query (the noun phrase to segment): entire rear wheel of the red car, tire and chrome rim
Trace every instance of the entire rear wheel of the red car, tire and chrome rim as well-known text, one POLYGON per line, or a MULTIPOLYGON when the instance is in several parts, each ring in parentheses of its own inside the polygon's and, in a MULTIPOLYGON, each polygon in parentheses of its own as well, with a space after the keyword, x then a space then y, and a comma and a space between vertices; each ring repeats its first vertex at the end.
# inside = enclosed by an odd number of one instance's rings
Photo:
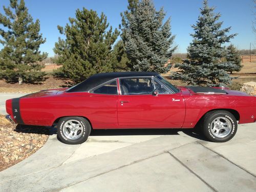
POLYGON ((57 125, 57 136, 61 142, 66 144, 81 144, 88 139, 90 133, 91 124, 83 117, 63 117, 59 120, 57 125), (65 126, 67 123, 70 124, 69 122, 78 124, 77 126, 79 126, 80 130, 78 130, 78 134, 75 135, 78 138, 75 138, 75 136, 71 134, 71 129, 68 126, 65 126), (68 136, 69 133, 70 136, 68 136), (73 138, 71 139, 71 137, 73 138))

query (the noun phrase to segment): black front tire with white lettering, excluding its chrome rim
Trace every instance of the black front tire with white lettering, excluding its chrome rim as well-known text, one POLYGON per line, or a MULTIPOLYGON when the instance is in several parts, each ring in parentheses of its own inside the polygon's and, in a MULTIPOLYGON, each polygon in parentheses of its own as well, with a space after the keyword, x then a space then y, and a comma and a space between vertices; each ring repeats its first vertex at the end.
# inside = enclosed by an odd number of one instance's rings
POLYGON ((236 120, 236 118, 234 118, 234 116, 231 113, 219 112, 219 113, 211 115, 208 119, 206 119, 206 121, 204 123, 204 127, 206 127, 206 129, 204 129, 205 135, 208 137, 209 140, 214 141, 214 142, 225 142, 225 141, 228 141, 231 138, 233 138, 233 136, 236 134, 237 120, 236 120), (223 138, 216 137, 210 131, 210 125, 211 125, 212 121, 217 117, 225 117, 231 123, 231 132, 226 137, 223 137, 223 138))

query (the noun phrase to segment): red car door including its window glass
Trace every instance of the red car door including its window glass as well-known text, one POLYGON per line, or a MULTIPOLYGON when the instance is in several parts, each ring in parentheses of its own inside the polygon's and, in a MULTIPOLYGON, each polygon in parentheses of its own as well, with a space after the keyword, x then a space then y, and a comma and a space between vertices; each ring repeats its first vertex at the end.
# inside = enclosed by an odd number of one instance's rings
POLYGON ((120 78, 121 95, 117 113, 120 127, 181 127, 185 103, 180 93, 172 94, 152 77, 120 78), (157 89, 158 95, 152 92, 157 89))

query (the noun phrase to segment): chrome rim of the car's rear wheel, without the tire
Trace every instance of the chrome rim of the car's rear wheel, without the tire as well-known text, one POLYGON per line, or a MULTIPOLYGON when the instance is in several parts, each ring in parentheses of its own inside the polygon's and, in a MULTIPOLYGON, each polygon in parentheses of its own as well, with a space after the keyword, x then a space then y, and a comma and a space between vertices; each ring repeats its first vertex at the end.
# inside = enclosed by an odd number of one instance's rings
POLYGON ((82 124, 74 119, 68 120, 63 125, 63 134, 71 140, 79 139, 82 136, 83 127, 82 124))

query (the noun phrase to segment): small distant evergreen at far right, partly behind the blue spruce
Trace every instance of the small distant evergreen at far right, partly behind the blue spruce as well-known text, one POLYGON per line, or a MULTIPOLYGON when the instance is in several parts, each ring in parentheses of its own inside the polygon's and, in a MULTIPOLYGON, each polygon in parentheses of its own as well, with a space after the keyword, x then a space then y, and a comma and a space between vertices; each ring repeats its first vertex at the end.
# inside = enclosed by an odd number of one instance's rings
POLYGON ((233 44, 227 47, 227 55, 226 55, 226 61, 231 62, 232 65, 230 65, 226 71, 232 74, 233 71, 241 71, 243 65, 242 65, 242 58, 239 54, 236 47, 234 47, 233 44))

